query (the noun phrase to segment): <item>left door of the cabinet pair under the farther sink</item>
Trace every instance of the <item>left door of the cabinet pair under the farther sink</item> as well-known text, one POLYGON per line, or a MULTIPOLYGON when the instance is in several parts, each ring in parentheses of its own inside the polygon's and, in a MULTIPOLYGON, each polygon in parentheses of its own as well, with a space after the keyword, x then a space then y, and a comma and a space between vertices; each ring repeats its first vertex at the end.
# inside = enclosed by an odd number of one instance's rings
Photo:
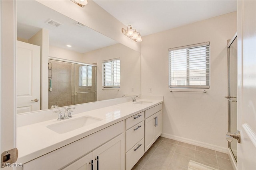
POLYGON ((152 115, 145 120, 145 152, 155 141, 156 117, 152 115))

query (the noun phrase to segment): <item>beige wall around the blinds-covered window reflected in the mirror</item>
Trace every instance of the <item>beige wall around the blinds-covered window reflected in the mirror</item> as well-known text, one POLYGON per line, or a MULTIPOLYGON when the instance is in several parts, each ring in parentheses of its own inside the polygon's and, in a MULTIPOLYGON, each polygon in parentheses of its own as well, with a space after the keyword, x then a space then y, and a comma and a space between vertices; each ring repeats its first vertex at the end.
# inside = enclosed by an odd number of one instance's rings
POLYGON ((84 54, 84 63, 97 63, 97 100, 140 94, 140 53, 118 43, 84 54), (102 90, 102 61, 120 58, 120 90, 102 90))

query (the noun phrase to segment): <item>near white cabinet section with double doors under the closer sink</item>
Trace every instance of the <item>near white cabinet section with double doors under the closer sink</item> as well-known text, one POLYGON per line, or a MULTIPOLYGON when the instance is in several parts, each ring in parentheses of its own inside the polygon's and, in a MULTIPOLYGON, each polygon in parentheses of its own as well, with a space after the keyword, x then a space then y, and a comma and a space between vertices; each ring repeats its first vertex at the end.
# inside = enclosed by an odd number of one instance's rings
POLYGON ((99 170, 125 169, 125 141, 124 121, 106 127, 92 135, 79 139, 64 147, 54 150, 24 164, 24 170, 97 170, 97 156, 99 170))

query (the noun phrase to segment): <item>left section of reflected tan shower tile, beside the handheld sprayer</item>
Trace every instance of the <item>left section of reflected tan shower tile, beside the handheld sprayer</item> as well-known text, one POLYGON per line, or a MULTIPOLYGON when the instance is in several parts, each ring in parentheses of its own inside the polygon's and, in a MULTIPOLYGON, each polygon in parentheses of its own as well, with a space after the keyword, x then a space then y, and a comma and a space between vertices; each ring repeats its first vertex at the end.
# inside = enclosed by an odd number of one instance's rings
MULTIPOLYGON (((49 93, 48 108, 52 105, 68 106, 72 104, 72 88, 71 88, 71 63, 60 61, 51 61, 52 63, 52 91, 49 93)), ((50 75, 49 70, 49 77, 50 75)), ((50 79, 50 78, 48 78, 50 79)), ((50 80, 49 80, 50 88, 50 80)))

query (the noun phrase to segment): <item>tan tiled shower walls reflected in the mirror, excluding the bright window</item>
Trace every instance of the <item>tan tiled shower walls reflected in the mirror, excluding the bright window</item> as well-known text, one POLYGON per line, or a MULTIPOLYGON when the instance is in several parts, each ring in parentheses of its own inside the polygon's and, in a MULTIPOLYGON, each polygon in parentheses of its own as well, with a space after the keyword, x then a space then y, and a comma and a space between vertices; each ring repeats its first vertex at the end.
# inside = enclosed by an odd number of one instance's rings
MULTIPOLYGON (((79 87, 80 64, 52 60, 49 62, 52 63, 52 91, 48 91, 48 108, 54 104, 62 107, 96 101, 96 93, 94 93, 96 91, 95 68, 92 68, 92 87, 79 87)), ((51 76, 50 70, 48 75, 51 76)), ((50 80, 48 88, 50 88, 50 80)))

